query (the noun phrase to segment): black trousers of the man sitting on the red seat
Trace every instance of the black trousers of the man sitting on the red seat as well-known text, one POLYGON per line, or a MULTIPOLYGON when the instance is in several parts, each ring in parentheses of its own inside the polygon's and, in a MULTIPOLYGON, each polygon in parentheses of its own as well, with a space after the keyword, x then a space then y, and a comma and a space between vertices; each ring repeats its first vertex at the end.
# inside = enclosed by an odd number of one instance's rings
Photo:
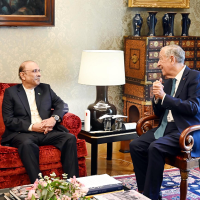
POLYGON ((63 171, 68 178, 79 177, 76 137, 70 133, 53 130, 46 135, 44 133, 19 133, 10 143, 10 146, 18 148, 22 163, 29 175, 31 183, 34 183, 40 173, 39 146, 53 145, 61 151, 63 171))

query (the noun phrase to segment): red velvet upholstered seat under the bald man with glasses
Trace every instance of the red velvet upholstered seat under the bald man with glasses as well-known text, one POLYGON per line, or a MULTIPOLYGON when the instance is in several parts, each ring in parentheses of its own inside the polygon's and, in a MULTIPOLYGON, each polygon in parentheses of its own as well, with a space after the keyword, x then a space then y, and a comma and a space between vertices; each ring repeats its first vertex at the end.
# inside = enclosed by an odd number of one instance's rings
MULTIPOLYGON (((5 89, 15 84, 0 83, 0 143, 4 133, 5 125, 2 117, 2 101, 5 89)), ((77 138, 81 130, 81 120, 78 116, 67 113, 62 124, 77 138)), ((87 155, 85 140, 77 138, 77 153, 79 164, 79 175, 86 176, 85 156, 87 155)), ((40 147, 40 170, 43 175, 55 172, 62 177, 61 152, 54 146, 40 147)), ((70 162, 70 161, 69 161, 70 162)), ((0 145, 0 189, 14 187, 17 185, 30 184, 28 174, 19 157, 17 148, 0 145)))

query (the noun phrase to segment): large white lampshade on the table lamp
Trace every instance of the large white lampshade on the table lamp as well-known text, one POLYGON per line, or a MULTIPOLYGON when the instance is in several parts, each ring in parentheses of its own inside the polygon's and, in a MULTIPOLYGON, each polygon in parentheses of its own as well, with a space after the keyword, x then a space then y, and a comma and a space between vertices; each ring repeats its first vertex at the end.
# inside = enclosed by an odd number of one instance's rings
POLYGON ((120 50, 84 50, 78 83, 96 86, 125 84, 124 52, 120 50))

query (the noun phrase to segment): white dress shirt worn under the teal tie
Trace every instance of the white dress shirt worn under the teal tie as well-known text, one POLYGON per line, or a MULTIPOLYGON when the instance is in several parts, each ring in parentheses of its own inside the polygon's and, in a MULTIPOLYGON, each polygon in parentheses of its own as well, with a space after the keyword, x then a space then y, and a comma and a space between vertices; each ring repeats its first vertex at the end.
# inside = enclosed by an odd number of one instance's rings
MULTIPOLYGON (((186 68, 186 65, 183 67, 183 69, 182 69, 182 70, 176 75, 176 77, 175 77, 175 79, 176 79, 176 85, 175 85, 174 94, 172 95, 173 97, 174 97, 175 94, 176 94, 176 91, 177 91, 177 89, 178 89, 178 86, 179 86, 179 83, 180 83, 181 78, 182 78, 182 76, 183 76, 183 72, 184 72, 185 68, 186 68)), ((165 99, 165 96, 166 96, 166 94, 163 96, 161 105, 163 104, 163 101, 164 101, 164 99, 165 99)), ((158 101, 156 101, 155 99, 154 99, 154 102, 155 102, 156 104, 158 103, 158 101)), ((171 111, 171 110, 169 110, 169 113, 168 113, 168 115, 167 115, 167 121, 168 121, 168 122, 174 122, 174 118, 173 118, 173 116, 172 116, 172 111, 171 111)))

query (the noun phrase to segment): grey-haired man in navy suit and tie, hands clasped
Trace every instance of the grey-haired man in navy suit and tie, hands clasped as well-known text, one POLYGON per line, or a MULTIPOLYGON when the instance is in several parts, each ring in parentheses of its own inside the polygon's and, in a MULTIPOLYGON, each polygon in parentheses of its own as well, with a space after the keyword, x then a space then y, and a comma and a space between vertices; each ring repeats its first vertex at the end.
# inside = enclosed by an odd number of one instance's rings
MULTIPOLYGON (((153 200, 161 199, 165 157, 176 156, 181 132, 200 122, 200 72, 184 65, 184 60, 185 52, 177 45, 161 49, 158 67, 165 80, 153 83, 152 100, 160 123, 130 143, 138 191, 153 200)), ((200 132, 193 137, 200 141, 200 132)), ((200 156, 199 144, 194 144, 191 154, 200 156)))

